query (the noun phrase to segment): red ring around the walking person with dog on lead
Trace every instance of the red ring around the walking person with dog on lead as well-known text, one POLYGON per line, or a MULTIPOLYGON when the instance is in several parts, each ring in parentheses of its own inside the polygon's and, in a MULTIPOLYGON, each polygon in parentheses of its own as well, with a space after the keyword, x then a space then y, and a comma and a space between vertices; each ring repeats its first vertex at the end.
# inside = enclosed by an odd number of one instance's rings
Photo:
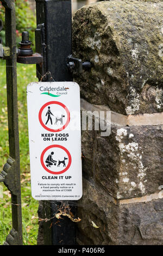
POLYGON ((64 130, 64 129, 67 127, 67 125, 70 123, 70 112, 68 111, 68 108, 67 108, 63 103, 61 103, 61 102, 59 102, 59 101, 49 101, 49 102, 45 103, 45 104, 40 108, 40 111, 39 111, 39 121, 40 121, 40 124, 42 125, 42 127, 45 128, 47 131, 49 131, 49 132, 59 132, 59 131, 64 130), (51 104, 60 105, 61 107, 63 107, 63 108, 65 109, 66 114, 67 114, 67 121, 66 121, 65 125, 62 126, 62 127, 59 128, 59 129, 51 129, 51 128, 47 127, 45 124, 43 124, 43 121, 42 121, 41 115, 42 115, 43 109, 44 109, 45 107, 47 107, 48 105, 51 105, 51 104))

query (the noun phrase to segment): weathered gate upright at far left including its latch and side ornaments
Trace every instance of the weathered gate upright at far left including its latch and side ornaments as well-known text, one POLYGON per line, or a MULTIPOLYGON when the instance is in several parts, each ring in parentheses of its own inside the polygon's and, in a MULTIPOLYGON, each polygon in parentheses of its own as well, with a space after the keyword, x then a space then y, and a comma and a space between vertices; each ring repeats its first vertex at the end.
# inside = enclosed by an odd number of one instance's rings
MULTIPOLYGON (((16 77, 16 17, 15 1, 2 0, 5 8, 5 44, 0 44, 0 57, 6 59, 7 104, 9 130, 9 159, 0 173, 0 182, 4 182, 11 192, 12 229, 4 245, 22 245, 22 212, 20 184, 20 153, 18 141, 17 77, 16 77)), ((1 28, 2 30, 2 22, 1 28)), ((2 40, 0 40, 0 43, 2 40)))

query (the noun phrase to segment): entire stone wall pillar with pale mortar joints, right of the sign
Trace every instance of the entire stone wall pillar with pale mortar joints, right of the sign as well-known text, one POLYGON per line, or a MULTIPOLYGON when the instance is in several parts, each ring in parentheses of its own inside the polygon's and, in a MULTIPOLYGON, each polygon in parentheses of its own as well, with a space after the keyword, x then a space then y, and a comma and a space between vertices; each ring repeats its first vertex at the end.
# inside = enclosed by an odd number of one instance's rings
POLYGON ((80 245, 163 243, 163 3, 99 2, 73 18, 83 110, 111 111, 111 134, 82 131, 80 245), (99 228, 92 226, 92 221, 99 228))

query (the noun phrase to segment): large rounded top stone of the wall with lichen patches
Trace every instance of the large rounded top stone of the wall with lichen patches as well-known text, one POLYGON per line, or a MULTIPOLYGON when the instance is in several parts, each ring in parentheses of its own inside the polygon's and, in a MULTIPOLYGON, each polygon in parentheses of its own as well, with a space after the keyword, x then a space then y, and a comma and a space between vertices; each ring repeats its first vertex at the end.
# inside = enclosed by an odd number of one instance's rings
POLYGON ((76 75, 81 95, 122 114, 163 110, 162 2, 109 1, 79 9, 73 54, 93 67, 76 75))

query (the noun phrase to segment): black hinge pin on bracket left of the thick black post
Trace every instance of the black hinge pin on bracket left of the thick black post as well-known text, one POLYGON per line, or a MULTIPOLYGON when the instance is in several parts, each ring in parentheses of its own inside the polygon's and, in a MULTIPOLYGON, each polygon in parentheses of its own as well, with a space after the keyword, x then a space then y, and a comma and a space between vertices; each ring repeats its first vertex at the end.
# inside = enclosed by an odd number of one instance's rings
POLYGON ((19 43, 20 47, 17 50, 17 62, 23 64, 41 64, 43 57, 40 53, 34 53, 30 47, 32 44, 29 41, 29 33, 27 31, 22 32, 22 41, 19 43))

